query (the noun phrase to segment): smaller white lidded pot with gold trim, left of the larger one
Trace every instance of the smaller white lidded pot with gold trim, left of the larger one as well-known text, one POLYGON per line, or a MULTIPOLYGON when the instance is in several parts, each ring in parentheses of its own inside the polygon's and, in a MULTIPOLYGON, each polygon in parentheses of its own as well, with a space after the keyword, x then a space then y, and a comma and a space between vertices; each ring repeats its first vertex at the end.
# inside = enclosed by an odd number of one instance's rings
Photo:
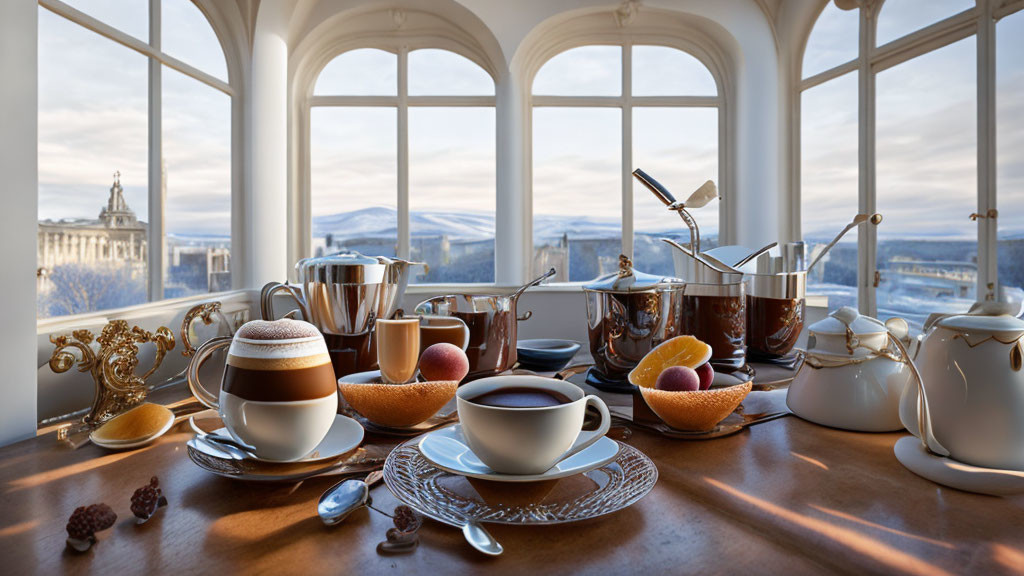
POLYGON ((804 363, 786 395, 794 414, 857 431, 903 427, 899 403, 911 381, 908 360, 894 345, 906 322, 887 323, 844 306, 808 328, 804 363))

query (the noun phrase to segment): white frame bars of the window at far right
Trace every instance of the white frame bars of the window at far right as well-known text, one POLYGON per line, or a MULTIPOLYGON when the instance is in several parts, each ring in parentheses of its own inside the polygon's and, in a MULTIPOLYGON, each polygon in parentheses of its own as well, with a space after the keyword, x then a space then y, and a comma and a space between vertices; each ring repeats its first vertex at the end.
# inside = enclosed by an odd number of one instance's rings
MULTIPOLYGON (((949 17, 929 25, 882 46, 876 46, 876 31, 884 0, 864 3, 857 8, 860 18, 858 55, 855 59, 833 67, 824 72, 803 78, 794 96, 796 118, 804 90, 823 84, 848 73, 858 75, 858 206, 862 213, 873 214, 877 206, 876 189, 876 89, 878 73, 922 56, 954 42, 974 36, 977 40, 977 154, 978 154, 978 299, 994 299, 998 294, 997 225, 996 211, 996 150, 995 150, 995 24, 1000 18, 1024 9, 1024 1, 976 0, 976 5, 949 17)), ((822 4, 821 9, 827 7, 822 4)), ((818 14, 820 16, 820 12, 818 14)), ((816 16, 804 35, 797 70, 803 70, 807 49, 816 16)), ((799 126, 799 121, 798 121, 799 126)), ((800 129, 794 130, 795 152, 801 162, 800 129)), ((797 237, 801 237, 801 168, 795 180, 794 210, 797 237)), ((884 216, 884 214, 883 214, 884 216)), ((971 217, 964 214, 964 218, 971 217)), ((862 314, 878 314, 877 289, 881 279, 878 270, 878 231, 874 227, 861 230, 857 238, 857 302, 862 314)))

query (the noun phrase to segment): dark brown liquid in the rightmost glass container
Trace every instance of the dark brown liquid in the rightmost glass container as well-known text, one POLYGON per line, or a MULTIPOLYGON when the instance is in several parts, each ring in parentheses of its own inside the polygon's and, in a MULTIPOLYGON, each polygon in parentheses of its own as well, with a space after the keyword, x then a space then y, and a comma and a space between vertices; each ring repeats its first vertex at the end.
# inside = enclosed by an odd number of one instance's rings
POLYGON ((746 296, 746 345, 752 358, 781 358, 804 329, 803 298, 746 296))

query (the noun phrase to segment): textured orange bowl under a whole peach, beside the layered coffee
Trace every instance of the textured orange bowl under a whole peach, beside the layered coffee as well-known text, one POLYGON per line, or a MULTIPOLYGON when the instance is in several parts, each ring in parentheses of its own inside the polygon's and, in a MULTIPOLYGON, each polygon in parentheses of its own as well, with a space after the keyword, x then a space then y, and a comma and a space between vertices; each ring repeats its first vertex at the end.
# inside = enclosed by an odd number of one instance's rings
POLYGON ((353 410, 371 422, 388 427, 415 426, 433 416, 455 397, 457 380, 385 384, 338 382, 338 390, 353 410))

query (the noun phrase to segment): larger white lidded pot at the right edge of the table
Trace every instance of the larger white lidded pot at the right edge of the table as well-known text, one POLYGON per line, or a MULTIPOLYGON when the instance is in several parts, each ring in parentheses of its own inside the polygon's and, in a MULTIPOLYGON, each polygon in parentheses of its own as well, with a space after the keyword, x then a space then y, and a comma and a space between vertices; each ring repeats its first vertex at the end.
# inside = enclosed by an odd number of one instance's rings
POLYGON ((900 417, 936 454, 1024 470, 1024 321, 998 312, 981 305, 926 325, 921 385, 907 387, 900 417))

